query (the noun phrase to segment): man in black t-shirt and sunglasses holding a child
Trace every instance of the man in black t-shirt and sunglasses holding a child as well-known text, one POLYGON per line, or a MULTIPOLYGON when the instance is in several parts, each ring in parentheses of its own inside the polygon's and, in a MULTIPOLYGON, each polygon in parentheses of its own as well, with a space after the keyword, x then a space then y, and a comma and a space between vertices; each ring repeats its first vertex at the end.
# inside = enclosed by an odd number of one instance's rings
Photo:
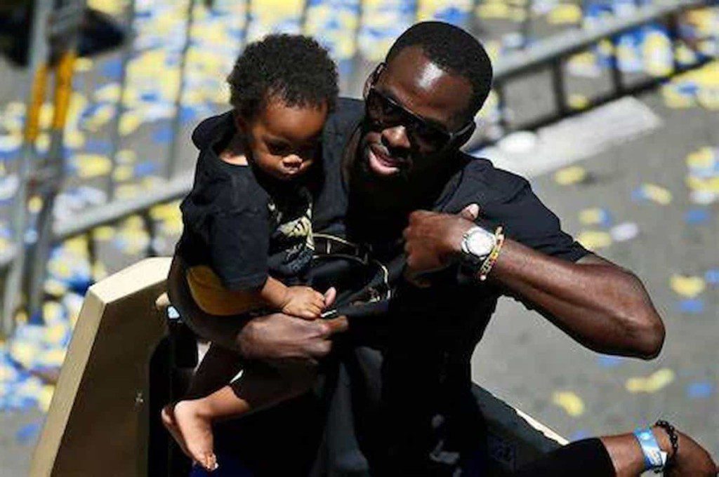
MULTIPOLYGON (((313 286, 336 287, 340 314, 357 316, 308 322, 273 314, 238 327, 236 350, 246 358, 316 360, 329 353, 333 335, 345 341, 324 363, 318 399, 271 409, 233 431, 256 471, 452 475, 483 468, 470 357, 500 295, 596 351, 649 359, 661 350, 664 326, 631 272, 562 232, 526 180, 459 152, 491 78, 490 60, 470 34, 426 22, 395 42, 368 78, 364 104, 338 104, 323 135, 313 229, 320 259, 324 252, 347 259, 321 260, 313 286), (393 281, 403 257, 406 280, 393 281), (357 261, 380 264, 380 272, 360 273, 357 261), (369 283, 359 299, 358 274, 369 283), (394 290, 391 300, 382 300, 383 280, 394 290), (377 343, 365 346, 367 337, 377 343)), ((200 372, 221 353, 211 348, 200 372)))

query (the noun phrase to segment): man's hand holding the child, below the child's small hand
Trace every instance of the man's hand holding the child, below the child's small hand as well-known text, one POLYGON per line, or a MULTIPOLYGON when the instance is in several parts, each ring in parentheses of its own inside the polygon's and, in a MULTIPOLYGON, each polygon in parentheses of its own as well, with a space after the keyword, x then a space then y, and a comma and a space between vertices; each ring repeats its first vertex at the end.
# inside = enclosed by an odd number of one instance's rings
MULTIPOLYGON (((336 297, 334 288, 324 295, 326 306, 336 297)), ((303 320, 283 313, 254 318, 238 336, 242 356, 254 359, 301 359, 316 361, 332 347, 334 333, 347 330, 347 317, 303 320)))

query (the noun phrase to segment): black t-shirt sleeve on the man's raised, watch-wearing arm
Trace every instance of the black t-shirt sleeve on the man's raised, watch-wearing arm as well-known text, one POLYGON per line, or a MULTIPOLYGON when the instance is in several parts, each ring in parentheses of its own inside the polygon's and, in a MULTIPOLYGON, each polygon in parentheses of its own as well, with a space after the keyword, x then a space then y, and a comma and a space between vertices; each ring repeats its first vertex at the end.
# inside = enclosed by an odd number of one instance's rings
POLYGON ((508 238, 543 254, 568 261, 587 255, 587 249, 562 231, 559 218, 541 203, 529 182, 513 177, 511 192, 502 200, 487 204, 480 213, 482 218, 493 226, 503 226, 508 238))

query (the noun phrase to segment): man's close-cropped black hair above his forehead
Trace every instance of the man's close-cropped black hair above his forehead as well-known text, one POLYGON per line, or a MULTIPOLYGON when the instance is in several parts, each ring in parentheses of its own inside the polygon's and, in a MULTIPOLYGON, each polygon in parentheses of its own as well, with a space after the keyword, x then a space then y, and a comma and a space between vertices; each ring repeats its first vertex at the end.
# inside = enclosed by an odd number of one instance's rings
POLYGON ((441 70, 467 78, 472 98, 464 111, 470 118, 482 108, 492 85, 492 63, 475 37, 444 22, 421 22, 409 27, 387 53, 389 63, 406 47, 418 46, 441 70))

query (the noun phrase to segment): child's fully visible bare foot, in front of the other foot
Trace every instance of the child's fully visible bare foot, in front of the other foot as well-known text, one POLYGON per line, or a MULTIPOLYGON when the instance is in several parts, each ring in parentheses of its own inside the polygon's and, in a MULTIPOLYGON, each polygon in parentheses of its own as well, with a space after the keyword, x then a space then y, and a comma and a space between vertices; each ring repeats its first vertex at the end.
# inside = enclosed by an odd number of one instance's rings
POLYGON ((213 451, 212 422, 199 412, 196 401, 180 401, 175 404, 175 424, 184 440, 190 458, 207 471, 219 466, 213 451))

